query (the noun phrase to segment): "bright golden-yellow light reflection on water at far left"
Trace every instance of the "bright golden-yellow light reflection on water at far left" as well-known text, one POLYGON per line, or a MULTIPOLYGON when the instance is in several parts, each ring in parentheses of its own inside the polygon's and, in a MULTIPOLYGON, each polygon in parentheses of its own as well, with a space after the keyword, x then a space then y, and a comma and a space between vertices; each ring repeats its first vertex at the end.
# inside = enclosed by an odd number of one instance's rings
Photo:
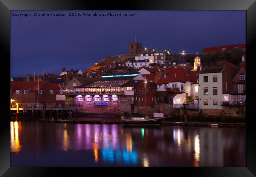
MULTIPOLYGON (((21 123, 21 122, 20 122, 21 123)), ((21 150, 20 140, 19 140, 19 126, 18 122, 10 122, 10 143, 11 152, 19 152, 21 150)))

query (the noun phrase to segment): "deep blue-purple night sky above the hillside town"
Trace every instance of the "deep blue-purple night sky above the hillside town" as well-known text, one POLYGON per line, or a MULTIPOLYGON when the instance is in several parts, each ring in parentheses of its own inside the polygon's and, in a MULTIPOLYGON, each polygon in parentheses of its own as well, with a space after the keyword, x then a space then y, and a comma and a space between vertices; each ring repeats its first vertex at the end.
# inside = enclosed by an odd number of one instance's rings
POLYGON ((246 11, 11 11, 11 77, 82 70, 107 55, 128 54, 128 43, 180 53, 246 43, 246 11), (62 17, 34 17, 33 13, 62 17), (137 13, 137 16, 69 16, 137 13), (30 17, 12 13, 32 13, 30 17))

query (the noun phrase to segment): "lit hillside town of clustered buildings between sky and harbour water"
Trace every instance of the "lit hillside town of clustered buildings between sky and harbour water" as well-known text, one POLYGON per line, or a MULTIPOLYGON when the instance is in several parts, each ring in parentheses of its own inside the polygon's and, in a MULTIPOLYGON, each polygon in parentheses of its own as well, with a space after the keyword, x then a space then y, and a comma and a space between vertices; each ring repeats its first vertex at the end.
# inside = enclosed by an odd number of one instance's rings
POLYGON ((154 113, 171 115, 188 109, 189 117, 245 117, 245 53, 245 44, 217 46, 204 48, 189 61, 185 51, 173 57, 169 50, 132 42, 129 54, 106 56, 85 70, 64 66, 58 74, 11 77, 11 107, 76 104, 80 114, 139 113, 150 118, 154 113), (235 55, 239 61, 230 63, 235 55), (216 62, 204 66, 216 56, 216 62))

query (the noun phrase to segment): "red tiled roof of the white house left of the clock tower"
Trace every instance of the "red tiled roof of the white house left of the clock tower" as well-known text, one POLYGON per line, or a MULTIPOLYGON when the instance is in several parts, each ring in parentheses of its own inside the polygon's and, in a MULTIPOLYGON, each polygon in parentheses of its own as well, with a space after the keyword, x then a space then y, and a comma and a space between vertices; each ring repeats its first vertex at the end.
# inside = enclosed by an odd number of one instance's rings
POLYGON ((188 73, 184 68, 166 68, 158 81, 158 85, 167 84, 169 82, 186 82, 186 81, 197 81, 196 79, 197 71, 189 71, 188 73), (164 78, 164 74, 167 73, 168 76, 164 78))

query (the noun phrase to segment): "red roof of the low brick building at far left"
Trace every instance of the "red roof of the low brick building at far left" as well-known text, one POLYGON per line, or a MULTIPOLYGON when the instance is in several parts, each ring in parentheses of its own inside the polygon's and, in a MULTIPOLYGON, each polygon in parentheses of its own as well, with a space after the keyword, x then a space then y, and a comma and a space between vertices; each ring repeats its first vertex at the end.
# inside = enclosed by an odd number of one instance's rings
MULTIPOLYGON (((48 81, 39 81, 39 88, 41 88, 48 81)), ((10 87, 12 90, 28 90, 28 92, 37 92, 38 82, 19 82, 11 81, 10 87)))

